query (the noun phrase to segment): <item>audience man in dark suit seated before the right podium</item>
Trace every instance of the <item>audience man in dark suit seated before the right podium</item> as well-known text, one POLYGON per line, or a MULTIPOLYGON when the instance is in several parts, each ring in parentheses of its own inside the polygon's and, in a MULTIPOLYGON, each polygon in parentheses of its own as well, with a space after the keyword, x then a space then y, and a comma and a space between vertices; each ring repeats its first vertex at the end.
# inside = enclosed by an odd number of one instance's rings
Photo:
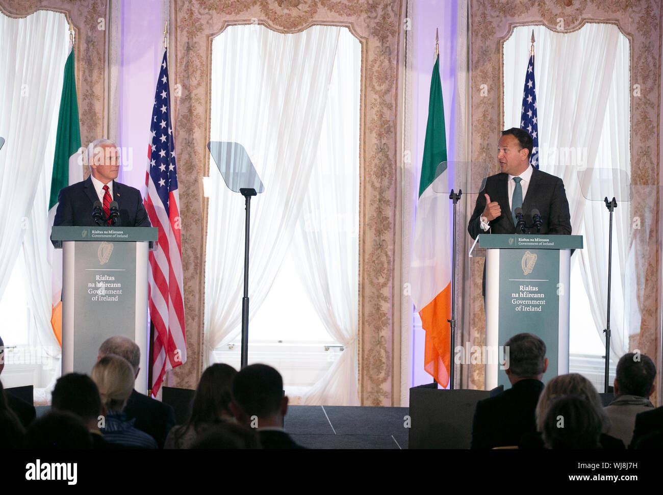
POLYGON ((518 445, 524 433, 536 431, 534 410, 544 388, 548 368, 546 344, 531 333, 518 333, 507 341, 507 376, 511 388, 477 402, 472 422, 472 449, 518 445))

